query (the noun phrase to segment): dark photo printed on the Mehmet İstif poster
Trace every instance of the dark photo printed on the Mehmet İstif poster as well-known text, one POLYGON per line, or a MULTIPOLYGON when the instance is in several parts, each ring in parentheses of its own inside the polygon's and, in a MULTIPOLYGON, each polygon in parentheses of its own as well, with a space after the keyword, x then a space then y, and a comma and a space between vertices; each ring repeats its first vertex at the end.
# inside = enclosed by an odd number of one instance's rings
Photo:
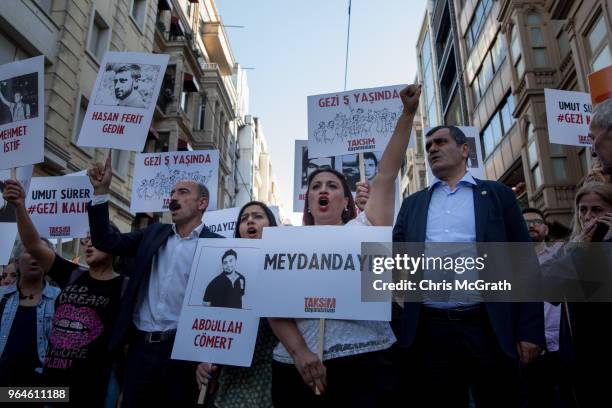
POLYGON ((0 125, 38 116, 38 73, 0 81, 0 125))

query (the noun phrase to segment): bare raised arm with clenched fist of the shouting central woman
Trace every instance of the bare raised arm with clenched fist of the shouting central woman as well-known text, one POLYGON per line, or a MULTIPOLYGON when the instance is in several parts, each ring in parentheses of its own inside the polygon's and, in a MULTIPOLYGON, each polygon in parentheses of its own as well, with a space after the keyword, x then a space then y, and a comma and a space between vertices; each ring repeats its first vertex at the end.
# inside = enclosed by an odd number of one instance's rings
POLYGON ((370 198, 365 207, 366 217, 372 225, 386 226, 393 223, 395 179, 410 141, 412 122, 419 107, 421 86, 409 85, 402 89, 400 96, 404 109, 378 163, 378 173, 372 180, 370 198))

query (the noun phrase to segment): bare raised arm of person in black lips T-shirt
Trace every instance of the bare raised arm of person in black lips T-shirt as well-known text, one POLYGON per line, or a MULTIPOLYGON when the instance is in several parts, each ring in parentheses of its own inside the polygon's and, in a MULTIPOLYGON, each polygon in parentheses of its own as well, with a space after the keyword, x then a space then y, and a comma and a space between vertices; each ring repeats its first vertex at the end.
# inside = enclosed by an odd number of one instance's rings
POLYGON ((42 270, 47 273, 55 260, 55 252, 40 239, 40 235, 25 207, 25 190, 16 180, 6 180, 3 197, 15 207, 17 230, 25 250, 36 259, 42 270))

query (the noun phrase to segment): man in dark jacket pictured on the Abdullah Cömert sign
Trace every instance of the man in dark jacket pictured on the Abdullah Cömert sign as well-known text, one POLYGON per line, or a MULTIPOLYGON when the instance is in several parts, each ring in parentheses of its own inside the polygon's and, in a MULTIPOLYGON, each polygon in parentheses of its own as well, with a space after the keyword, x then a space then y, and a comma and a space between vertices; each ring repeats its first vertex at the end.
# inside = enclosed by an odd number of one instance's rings
POLYGON ((210 281, 204 292, 204 303, 213 307, 232 307, 242 309, 244 296, 244 275, 236 271, 238 254, 233 249, 225 251, 221 257, 223 272, 210 281))

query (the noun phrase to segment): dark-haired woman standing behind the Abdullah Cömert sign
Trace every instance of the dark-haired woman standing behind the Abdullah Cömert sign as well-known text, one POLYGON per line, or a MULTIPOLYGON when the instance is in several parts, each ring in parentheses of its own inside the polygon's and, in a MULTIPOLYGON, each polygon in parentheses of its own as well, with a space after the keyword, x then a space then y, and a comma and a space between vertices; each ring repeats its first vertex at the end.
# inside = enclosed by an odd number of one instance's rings
MULTIPOLYGON (((251 201, 242 206, 235 225, 235 238, 260 239, 264 227, 275 227, 277 223, 267 205, 251 201)), ((260 319, 251 367, 222 367, 214 397, 216 407, 272 407, 272 350, 276 343, 268 321, 260 319)), ((200 363, 196 371, 198 384, 207 385, 217 369, 216 365, 200 363)))

